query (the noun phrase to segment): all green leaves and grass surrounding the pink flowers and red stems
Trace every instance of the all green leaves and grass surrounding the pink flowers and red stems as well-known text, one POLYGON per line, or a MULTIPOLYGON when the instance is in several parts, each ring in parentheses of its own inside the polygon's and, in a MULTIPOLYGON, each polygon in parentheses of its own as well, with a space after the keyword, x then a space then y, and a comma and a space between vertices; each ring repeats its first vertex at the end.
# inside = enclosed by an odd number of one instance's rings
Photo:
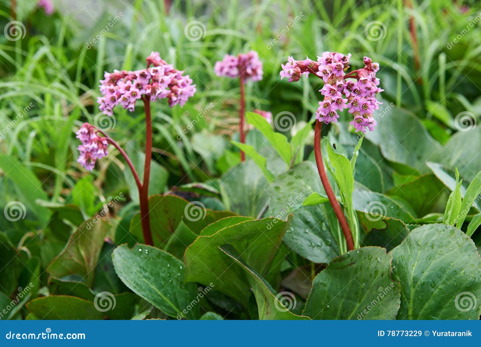
POLYGON ((479 319, 481 29, 458 35, 481 8, 411 2, 174 1, 167 14, 135 1, 107 31, 125 4, 85 16, 57 1, 46 18, 34 2, 2 3, 2 23, 26 30, 0 46, 0 319, 479 319), (206 31, 190 40, 193 21, 206 31), (374 21, 382 39, 366 34, 374 21), (127 162, 110 146, 86 172, 75 132, 109 120, 142 178, 143 106, 103 119, 96 99, 104 71, 143 68, 152 50, 197 92, 183 107, 152 103, 150 247, 127 162), (238 81, 214 63, 247 50, 264 76, 245 85, 242 144, 238 81), (347 112, 323 126, 350 252, 312 150, 322 81, 279 76, 288 56, 326 50, 352 53, 353 69, 372 57, 385 89, 375 131, 359 137, 347 112), (115 305, 99 310, 106 298, 115 305))

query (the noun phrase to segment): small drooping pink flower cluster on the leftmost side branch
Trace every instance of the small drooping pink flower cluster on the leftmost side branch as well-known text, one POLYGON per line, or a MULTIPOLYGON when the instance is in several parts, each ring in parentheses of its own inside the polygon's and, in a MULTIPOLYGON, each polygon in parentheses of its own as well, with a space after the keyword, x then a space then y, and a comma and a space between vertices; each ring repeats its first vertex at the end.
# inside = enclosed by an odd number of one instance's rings
POLYGON ((97 159, 101 159, 108 154, 107 146, 109 144, 107 139, 98 136, 95 126, 89 123, 84 123, 76 134, 77 138, 82 142, 77 148, 80 152, 77 162, 87 170, 92 171, 97 159))

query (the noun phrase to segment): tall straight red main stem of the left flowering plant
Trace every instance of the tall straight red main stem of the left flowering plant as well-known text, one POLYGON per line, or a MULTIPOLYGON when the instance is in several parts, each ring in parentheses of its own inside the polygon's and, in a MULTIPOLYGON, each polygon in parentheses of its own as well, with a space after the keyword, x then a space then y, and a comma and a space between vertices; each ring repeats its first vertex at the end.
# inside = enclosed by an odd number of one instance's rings
POLYGON ((149 219, 149 177, 150 165, 152 160, 152 117, 150 109, 150 99, 142 98, 145 106, 145 163, 144 163, 144 181, 142 191, 139 194, 140 199, 140 221, 142 223, 142 233, 144 242, 153 246, 152 232, 149 219))

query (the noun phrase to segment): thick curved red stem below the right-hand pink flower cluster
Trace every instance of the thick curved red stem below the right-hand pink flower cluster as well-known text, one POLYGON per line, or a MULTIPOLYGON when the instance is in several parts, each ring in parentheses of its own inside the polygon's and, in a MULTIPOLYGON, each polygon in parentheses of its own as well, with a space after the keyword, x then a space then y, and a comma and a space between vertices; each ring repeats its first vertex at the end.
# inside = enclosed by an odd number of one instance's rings
POLYGON ((319 172, 319 176, 321 177, 322 186, 324 186, 324 190, 329 198, 329 202, 334 209, 334 213, 336 214, 337 219, 339 220, 339 224, 342 228, 342 233, 346 238, 346 244, 348 250, 354 249, 354 242, 353 242, 353 234, 351 233, 351 229, 349 228, 349 224, 347 223, 346 217, 342 212, 341 205, 339 205, 339 201, 337 201, 334 192, 332 191, 332 187, 330 186, 328 175, 326 174, 326 170, 324 169, 324 163, 322 162, 322 154, 321 154, 321 127, 322 122, 316 120, 316 130, 314 132, 314 154, 316 157, 316 164, 317 164, 317 171, 319 172))

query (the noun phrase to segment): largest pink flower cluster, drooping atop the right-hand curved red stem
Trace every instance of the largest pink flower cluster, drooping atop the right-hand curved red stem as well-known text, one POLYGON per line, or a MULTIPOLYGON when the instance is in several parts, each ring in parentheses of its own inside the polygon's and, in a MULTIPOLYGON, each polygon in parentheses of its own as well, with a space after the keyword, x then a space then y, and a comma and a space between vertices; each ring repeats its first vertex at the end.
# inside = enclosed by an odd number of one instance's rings
POLYGON ((298 81, 302 74, 316 74, 324 81, 321 94, 324 99, 319 102, 316 119, 326 124, 337 122, 338 112, 348 109, 354 116, 353 124, 357 131, 373 131, 377 125, 372 113, 379 108, 380 102, 376 94, 383 91, 379 88, 379 78, 376 72, 379 64, 364 57, 364 68, 349 74, 345 70, 349 67, 351 54, 343 55, 337 52, 324 52, 317 57, 317 62, 310 59, 295 61, 289 57, 287 64, 282 64, 281 79, 288 77, 289 82, 298 81))

